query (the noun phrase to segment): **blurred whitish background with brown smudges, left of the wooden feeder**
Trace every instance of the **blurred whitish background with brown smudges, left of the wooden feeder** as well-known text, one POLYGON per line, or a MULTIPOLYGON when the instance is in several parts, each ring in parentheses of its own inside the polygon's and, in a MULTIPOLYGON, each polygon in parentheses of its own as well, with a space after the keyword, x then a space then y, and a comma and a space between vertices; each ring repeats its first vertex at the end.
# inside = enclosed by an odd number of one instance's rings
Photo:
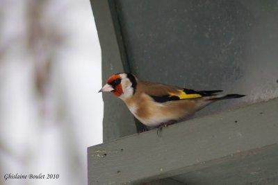
POLYGON ((87 184, 102 142, 101 49, 89 0, 0 0, 0 184, 87 184), (8 179, 5 174, 58 174, 8 179))

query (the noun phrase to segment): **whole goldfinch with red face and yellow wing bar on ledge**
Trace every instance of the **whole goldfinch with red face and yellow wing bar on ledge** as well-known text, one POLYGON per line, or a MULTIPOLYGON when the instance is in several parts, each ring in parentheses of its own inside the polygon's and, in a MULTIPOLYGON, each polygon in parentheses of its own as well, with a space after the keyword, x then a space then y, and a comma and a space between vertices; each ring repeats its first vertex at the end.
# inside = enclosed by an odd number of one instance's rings
POLYGON ((184 121, 217 100, 245 96, 217 94, 222 90, 195 91, 157 82, 144 82, 131 73, 117 73, 108 78, 106 85, 99 90, 105 91, 111 91, 121 98, 130 112, 151 128, 184 121))

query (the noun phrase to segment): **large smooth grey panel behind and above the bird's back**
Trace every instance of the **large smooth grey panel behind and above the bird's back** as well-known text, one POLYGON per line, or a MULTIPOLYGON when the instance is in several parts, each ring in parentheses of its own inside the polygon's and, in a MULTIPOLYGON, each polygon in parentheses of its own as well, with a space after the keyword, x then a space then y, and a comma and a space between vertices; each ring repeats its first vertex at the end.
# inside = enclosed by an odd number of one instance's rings
POLYGON ((199 115, 278 97, 278 1, 116 2, 140 79, 248 95, 199 115))

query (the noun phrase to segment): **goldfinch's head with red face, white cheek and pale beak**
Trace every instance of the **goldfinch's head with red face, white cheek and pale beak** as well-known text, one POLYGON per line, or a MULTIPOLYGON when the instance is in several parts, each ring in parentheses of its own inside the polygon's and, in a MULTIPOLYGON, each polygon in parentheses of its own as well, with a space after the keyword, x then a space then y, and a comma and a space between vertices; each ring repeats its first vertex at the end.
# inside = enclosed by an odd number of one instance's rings
POLYGON ((137 78, 131 73, 117 73, 109 77, 99 92, 112 92, 115 96, 130 98, 136 91, 137 78))

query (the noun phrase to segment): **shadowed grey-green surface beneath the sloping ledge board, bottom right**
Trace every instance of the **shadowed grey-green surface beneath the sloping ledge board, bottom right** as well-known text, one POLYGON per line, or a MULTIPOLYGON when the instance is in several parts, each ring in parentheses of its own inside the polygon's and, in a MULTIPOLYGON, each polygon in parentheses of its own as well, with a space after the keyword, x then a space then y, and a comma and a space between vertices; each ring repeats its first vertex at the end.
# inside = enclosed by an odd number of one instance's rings
POLYGON ((278 145, 224 157, 172 177, 188 185, 278 184, 278 145), (204 167, 204 168, 203 168, 204 167))

